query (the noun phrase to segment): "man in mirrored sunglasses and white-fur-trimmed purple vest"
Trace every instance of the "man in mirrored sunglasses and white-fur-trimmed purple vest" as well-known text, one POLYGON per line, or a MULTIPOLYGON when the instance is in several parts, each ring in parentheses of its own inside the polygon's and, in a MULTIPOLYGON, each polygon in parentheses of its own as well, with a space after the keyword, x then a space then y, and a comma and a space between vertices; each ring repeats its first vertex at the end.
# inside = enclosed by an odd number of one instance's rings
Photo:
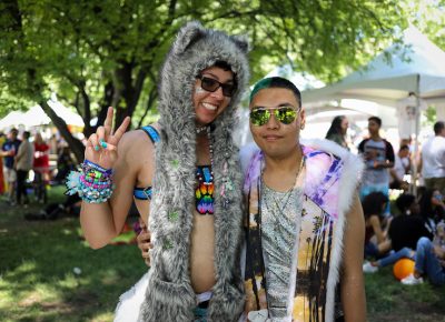
POLYGON ((356 193, 363 163, 330 141, 300 140, 305 111, 299 90, 286 79, 254 87, 249 119, 257 147, 241 150, 243 318, 365 321, 364 221, 356 193))

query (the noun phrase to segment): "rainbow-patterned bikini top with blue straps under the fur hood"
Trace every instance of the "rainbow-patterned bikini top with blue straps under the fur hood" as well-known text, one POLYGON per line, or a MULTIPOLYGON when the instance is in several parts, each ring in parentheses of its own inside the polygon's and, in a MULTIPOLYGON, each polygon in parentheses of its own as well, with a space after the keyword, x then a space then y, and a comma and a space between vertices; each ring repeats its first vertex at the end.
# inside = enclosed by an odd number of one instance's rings
MULTIPOLYGON (((156 145, 159 133, 151 125, 141 128, 156 145)), ((198 185, 195 190, 195 205, 199 214, 214 214, 214 174, 211 165, 198 165, 196 170, 198 185)), ((138 200, 151 200, 151 187, 135 187, 134 197, 138 200)))

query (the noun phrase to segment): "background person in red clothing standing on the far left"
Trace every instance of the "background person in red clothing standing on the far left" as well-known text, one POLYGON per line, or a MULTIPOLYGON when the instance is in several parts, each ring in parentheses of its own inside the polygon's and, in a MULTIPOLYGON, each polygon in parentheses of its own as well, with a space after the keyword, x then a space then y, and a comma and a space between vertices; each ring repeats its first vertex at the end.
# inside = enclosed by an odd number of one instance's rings
POLYGON ((49 174, 49 145, 43 141, 42 135, 37 132, 34 135, 34 189, 37 201, 47 202, 47 180, 49 174))

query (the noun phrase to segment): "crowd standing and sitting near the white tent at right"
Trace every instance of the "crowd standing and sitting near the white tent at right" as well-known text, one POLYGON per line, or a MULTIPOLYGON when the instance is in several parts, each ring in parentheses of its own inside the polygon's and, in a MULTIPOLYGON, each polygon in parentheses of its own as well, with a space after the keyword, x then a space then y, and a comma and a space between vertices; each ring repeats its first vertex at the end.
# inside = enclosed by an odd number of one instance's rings
MULTIPOLYGON (((347 144, 347 119, 336 117, 326 139, 347 144), (346 127, 346 129, 345 129, 346 127)), ((400 259, 415 261, 414 272, 403 284, 445 284, 445 125, 434 124, 434 137, 422 145, 418 164, 423 185, 417 195, 409 193, 406 174, 413 174, 415 155, 411 155, 409 140, 402 140, 395 154, 392 144, 379 133, 382 120, 368 119, 369 138, 363 140, 358 151, 365 161, 360 185, 360 200, 365 215, 365 273, 400 259), (390 209, 389 189, 402 191, 390 209)), ((347 147, 347 145, 346 145, 347 147)), ((416 178, 413 178, 416 180, 416 178)))

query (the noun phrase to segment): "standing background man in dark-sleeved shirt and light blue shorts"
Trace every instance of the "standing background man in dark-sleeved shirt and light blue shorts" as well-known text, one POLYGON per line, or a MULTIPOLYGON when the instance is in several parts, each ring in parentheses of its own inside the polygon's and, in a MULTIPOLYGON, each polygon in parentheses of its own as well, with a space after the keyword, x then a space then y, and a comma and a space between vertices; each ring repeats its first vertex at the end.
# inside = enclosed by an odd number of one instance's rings
MULTIPOLYGON (((394 167, 393 145, 380 137, 382 120, 377 117, 368 119, 369 138, 358 145, 359 153, 365 159, 365 171, 360 187, 360 199, 374 191, 380 191, 389 197, 389 172, 394 167)), ((389 204, 385 215, 389 215, 389 204)))

